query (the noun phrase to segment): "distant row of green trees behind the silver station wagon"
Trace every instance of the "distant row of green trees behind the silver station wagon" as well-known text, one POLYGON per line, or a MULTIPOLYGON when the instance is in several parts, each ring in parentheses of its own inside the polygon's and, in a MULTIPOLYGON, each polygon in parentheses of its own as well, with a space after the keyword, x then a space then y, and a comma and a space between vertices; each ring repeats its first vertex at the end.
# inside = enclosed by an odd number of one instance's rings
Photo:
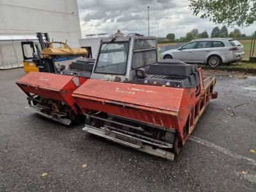
POLYGON ((174 42, 174 41, 190 41, 193 40, 195 38, 242 38, 245 37, 245 34, 242 34, 241 31, 239 29, 234 29, 233 31, 230 31, 230 33, 228 33, 228 29, 226 26, 222 26, 221 28, 219 28, 218 26, 216 26, 215 28, 212 29, 211 32, 211 36, 208 35, 207 31, 203 31, 202 33, 199 33, 198 29, 192 29, 191 31, 189 31, 188 33, 186 33, 186 36, 181 36, 179 39, 175 39, 175 33, 168 33, 166 35, 166 38, 159 38, 159 42, 162 41, 169 41, 169 42, 174 42))

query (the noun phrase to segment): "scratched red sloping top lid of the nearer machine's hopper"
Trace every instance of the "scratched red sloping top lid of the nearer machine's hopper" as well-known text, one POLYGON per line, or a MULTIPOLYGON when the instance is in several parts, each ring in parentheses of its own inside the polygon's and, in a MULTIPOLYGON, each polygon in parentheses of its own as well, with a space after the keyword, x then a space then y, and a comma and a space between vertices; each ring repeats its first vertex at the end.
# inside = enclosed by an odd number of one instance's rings
POLYGON ((120 104, 124 107, 138 108, 140 106, 141 109, 147 108, 151 109, 150 111, 178 113, 180 109, 188 105, 187 102, 182 103, 184 92, 187 93, 187 90, 190 89, 88 79, 86 83, 77 88, 72 96, 120 104))

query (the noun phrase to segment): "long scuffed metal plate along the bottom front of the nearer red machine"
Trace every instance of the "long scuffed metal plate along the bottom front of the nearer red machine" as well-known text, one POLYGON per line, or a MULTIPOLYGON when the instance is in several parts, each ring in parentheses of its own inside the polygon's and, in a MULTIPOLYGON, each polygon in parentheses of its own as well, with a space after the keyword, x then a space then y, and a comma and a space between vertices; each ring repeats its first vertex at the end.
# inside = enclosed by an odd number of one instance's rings
POLYGON ((150 145, 145 145, 145 143, 141 140, 136 140, 134 138, 131 138, 131 136, 120 134, 118 132, 102 130, 96 127, 92 127, 90 125, 86 125, 83 128, 83 131, 87 131, 97 136, 101 136, 102 138, 106 138, 107 140, 111 140, 116 143, 120 143, 122 145, 132 147, 143 152, 147 152, 148 154, 152 154, 154 156, 163 157, 164 159, 168 159, 170 161, 173 161, 175 156, 172 152, 168 152, 159 148, 154 149, 150 145))

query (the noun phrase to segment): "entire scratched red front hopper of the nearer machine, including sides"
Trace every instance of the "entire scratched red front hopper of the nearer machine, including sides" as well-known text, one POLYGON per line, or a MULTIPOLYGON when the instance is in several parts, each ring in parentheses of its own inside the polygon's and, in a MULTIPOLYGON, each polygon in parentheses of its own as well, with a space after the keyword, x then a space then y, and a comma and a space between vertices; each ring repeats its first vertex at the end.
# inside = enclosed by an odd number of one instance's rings
POLYGON ((87 109, 182 130, 195 104, 195 89, 150 86, 88 79, 72 94, 87 109))

